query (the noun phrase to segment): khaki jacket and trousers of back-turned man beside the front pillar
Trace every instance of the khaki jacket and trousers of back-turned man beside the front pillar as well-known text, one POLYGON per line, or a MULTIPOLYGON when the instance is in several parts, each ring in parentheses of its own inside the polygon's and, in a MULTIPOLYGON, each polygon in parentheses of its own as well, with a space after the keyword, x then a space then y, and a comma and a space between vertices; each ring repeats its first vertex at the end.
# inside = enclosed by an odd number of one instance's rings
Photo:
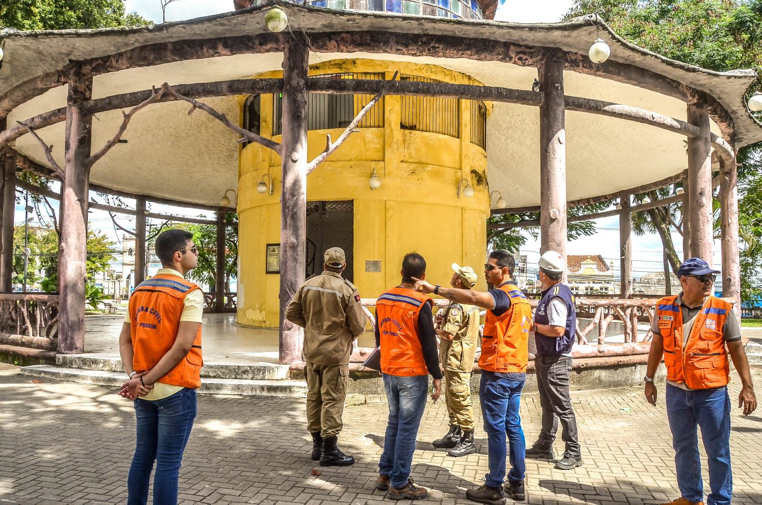
POLYGON ((304 328, 307 376, 307 430, 325 438, 344 426, 352 341, 363 334, 367 317, 357 288, 328 270, 309 278, 296 292, 286 318, 304 328))

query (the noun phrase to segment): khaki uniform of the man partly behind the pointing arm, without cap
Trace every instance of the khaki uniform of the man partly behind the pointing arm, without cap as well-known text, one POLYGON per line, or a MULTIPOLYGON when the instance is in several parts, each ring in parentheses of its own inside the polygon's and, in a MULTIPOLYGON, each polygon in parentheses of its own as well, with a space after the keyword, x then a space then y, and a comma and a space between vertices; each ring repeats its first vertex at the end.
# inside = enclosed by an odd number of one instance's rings
POLYGON ((453 340, 440 339, 440 363, 444 368, 447 414, 450 425, 474 429, 471 405, 471 372, 479 342, 479 307, 450 302, 443 312, 442 328, 453 340))

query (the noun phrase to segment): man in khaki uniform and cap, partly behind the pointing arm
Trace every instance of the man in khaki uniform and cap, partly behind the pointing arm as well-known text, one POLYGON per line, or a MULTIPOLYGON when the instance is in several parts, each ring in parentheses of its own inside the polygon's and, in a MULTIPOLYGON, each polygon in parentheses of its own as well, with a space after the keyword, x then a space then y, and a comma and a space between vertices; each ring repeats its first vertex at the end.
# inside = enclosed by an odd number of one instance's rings
MULTIPOLYGON (((472 267, 453 263, 450 285, 471 289, 478 277, 472 267)), ((476 452, 474 445, 474 412, 471 406, 471 371, 476 345, 479 342, 479 307, 450 302, 437 313, 437 337, 440 339, 440 363, 444 368, 445 401, 450 415, 450 431, 434 447, 447 449, 451 456, 476 452)))

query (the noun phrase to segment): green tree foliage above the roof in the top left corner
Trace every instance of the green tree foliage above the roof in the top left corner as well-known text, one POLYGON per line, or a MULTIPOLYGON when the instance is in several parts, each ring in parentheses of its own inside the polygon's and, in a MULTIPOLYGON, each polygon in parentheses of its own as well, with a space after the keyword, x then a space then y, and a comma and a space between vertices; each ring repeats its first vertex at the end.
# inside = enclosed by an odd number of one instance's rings
POLYGON ((66 30, 151 24, 125 14, 123 0, 11 0, 0 3, 0 24, 17 30, 66 30))

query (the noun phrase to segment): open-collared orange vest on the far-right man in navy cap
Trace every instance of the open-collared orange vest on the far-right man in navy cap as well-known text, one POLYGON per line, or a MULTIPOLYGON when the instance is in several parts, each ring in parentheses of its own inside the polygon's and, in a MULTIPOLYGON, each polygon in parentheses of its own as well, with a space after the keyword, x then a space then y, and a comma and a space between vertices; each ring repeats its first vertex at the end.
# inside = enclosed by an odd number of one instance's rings
POLYGON ((730 381, 730 362, 722 327, 733 304, 709 296, 693 321, 687 343, 683 340, 683 312, 677 296, 656 302, 656 317, 664 340, 667 379, 685 382, 691 389, 719 388, 730 381))

